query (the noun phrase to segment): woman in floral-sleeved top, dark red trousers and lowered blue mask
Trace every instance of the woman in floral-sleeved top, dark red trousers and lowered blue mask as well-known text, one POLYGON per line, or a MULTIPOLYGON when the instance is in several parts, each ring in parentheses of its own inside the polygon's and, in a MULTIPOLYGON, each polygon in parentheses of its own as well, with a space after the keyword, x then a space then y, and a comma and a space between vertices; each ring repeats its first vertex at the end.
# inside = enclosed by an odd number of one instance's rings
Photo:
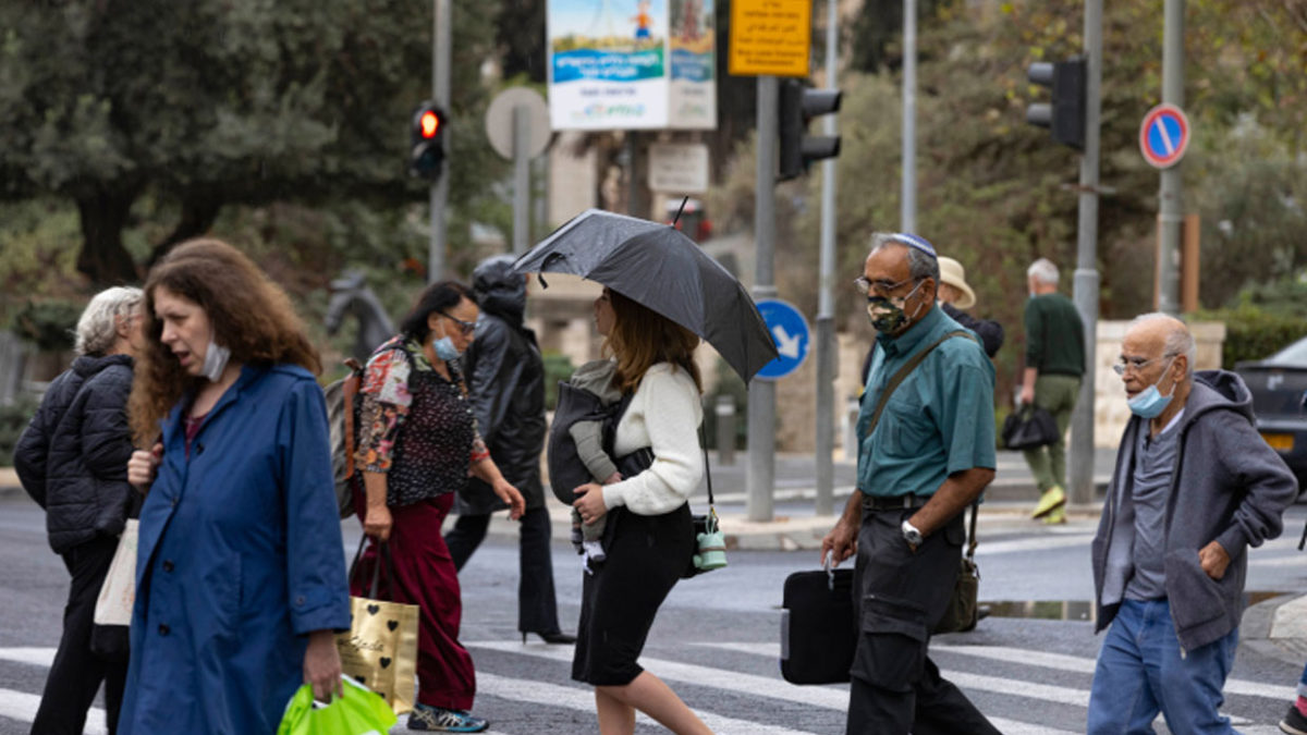
MULTIPOLYGON (((372 353, 359 390, 359 441, 363 532, 371 544, 363 574, 353 581, 363 592, 379 544, 389 548, 393 574, 382 574, 389 599, 421 608, 417 706, 409 730, 480 732, 489 723, 473 717, 476 672, 459 643, 463 615, 459 575, 440 524, 454 493, 468 473, 488 483, 521 517, 521 494, 499 473, 477 433, 456 360, 469 344, 477 305, 463 284, 443 281, 422 293, 400 326, 400 335, 372 353), (388 578, 392 577, 392 578, 388 578)), ((384 562, 383 562, 384 564, 384 562)))

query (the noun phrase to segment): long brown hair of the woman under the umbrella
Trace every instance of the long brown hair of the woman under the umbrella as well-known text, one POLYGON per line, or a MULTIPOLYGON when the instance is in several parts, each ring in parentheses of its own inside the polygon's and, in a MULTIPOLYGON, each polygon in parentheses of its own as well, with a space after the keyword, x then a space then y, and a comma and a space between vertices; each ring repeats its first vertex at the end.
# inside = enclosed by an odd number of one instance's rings
POLYGON ((608 289, 608 296, 614 319, 604 348, 617 357, 613 374, 617 390, 634 392, 650 368, 670 362, 684 368, 694 378, 694 387, 703 392, 699 366, 694 362, 698 335, 613 289, 608 289))

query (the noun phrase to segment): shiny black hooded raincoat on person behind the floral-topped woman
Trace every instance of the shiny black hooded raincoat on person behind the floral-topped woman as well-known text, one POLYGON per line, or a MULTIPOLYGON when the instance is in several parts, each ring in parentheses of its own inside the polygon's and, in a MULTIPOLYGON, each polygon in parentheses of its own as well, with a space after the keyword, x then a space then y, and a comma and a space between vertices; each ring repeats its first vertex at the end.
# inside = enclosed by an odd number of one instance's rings
MULTIPOLYGON (((472 289, 481 302, 477 337, 464 357, 481 438, 527 507, 540 507, 540 453, 545 446, 545 365, 536 333, 523 326, 527 281, 512 272, 512 258, 484 260, 472 272, 472 289)), ((505 507, 490 487, 473 477, 460 493, 455 511, 478 515, 505 507)))

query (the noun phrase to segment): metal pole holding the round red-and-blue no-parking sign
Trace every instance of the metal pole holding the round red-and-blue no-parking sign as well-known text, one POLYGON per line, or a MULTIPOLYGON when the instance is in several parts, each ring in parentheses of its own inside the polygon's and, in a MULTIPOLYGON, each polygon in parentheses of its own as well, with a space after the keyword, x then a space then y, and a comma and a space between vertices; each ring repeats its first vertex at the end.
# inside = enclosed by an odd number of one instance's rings
MULTIPOLYGON (((1184 0, 1166 0, 1162 31, 1162 102, 1184 109, 1184 0)), ((1180 163, 1162 170, 1162 238, 1157 258, 1158 311, 1180 313, 1180 228, 1184 224, 1184 183, 1180 163)))

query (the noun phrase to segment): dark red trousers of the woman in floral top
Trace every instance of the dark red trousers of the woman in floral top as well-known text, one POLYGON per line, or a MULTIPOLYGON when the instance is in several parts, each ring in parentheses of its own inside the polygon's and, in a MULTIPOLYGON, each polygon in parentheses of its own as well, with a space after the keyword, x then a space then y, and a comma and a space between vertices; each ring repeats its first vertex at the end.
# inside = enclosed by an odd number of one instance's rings
MULTIPOLYGON (((417 636, 417 701, 446 709, 472 709, 477 693, 477 674, 472 654, 459 643, 463 620, 463 592, 450 549, 440 536, 440 523, 450 514, 454 493, 446 493, 404 507, 391 507, 388 547, 395 566, 395 583, 380 574, 378 594, 392 602, 416 604, 422 609, 417 636)), ((350 583, 352 595, 366 592, 376 564, 375 540, 369 540, 359 570, 350 583)))

